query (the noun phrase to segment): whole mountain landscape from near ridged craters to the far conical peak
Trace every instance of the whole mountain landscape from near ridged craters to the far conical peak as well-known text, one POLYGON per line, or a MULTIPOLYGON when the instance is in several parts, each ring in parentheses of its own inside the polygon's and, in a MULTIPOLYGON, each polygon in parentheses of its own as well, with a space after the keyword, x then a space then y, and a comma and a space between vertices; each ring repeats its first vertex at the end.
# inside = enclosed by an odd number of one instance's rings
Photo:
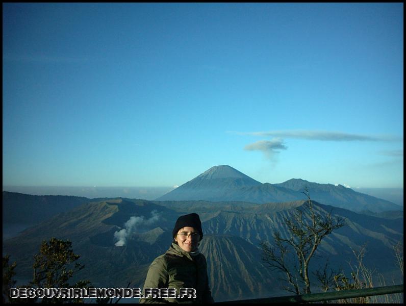
POLYGON ((30 279, 41 242, 69 239, 85 265, 77 278, 103 288, 121 288, 130 281, 132 287, 142 287, 149 264, 171 243, 176 218, 195 212, 205 233, 199 249, 208 260, 216 301, 286 295, 280 275, 262 263, 259 243, 272 242, 274 231, 287 237, 284 218, 302 207, 304 187, 317 212, 332 212, 347 223, 323 240, 314 268, 328 259, 336 270, 348 271, 348 261, 354 260, 351 248, 366 243, 364 264, 390 277, 389 282, 401 278, 392 247, 403 238, 402 207, 340 185, 298 179, 262 184, 230 166, 213 167, 155 201, 3 192, 3 228, 32 225, 4 239, 3 254, 17 262, 18 279, 30 279))

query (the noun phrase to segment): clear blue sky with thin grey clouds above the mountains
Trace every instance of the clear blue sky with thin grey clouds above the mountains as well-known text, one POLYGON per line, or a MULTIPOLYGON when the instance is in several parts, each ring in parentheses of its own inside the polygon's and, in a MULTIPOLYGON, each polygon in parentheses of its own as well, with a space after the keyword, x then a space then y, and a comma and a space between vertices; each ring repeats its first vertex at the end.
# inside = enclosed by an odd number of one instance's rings
POLYGON ((403 4, 3 4, 3 186, 403 188, 403 4))

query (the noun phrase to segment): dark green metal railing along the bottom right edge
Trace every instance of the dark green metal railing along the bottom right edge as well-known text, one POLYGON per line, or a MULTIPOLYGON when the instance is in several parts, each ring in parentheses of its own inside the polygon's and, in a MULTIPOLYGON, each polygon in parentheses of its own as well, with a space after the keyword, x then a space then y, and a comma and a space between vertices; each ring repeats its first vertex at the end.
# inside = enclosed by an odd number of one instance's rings
POLYGON ((396 285, 396 286, 386 286, 386 287, 376 287, 376 288, 366 288, 366 289, 343 290, 343 291, 336 291, 336 292, 311 293, 311 294, 256 298, 256 299, 246 299, 246 300, 234 300, 234 301, 216 302, 215 304, 224 304, 224 303, 309 303, 309 302, 321 302, 321 301, 327 301, 327 300, 357 298, 357 297, 384 295, 384 294, 393 294, 393 293, 402 293, 402 292, 403 292, 403 285, 396 285))

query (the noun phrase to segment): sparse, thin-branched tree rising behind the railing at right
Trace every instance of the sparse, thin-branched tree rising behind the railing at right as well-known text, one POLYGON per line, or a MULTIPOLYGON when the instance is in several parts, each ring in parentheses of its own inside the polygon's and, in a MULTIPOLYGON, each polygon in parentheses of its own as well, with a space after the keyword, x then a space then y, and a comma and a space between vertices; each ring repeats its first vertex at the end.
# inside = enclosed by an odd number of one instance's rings
POLYGON ((273 232, 273 244, 261 242, 262 260, 274 270, 283 272, 283 281, 289 286, 284 290, 295 294, 309 294, 310 260, 321 241, 334 230, 346 225, 341 217, 333 217, 332 212, 316 212, 307 188, 304 189, 308 200, 296 208, 291 218, 284 218, 287 236, 273 232))

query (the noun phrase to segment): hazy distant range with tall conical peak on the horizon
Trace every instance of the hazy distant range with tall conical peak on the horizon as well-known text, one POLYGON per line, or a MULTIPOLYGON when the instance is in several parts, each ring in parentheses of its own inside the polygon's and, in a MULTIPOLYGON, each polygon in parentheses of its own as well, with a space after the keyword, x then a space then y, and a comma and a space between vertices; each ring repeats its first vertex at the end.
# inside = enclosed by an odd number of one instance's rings
POLYGON ((302 192, 306 187, 311 198, 324 205, 354 212, 403 210, 395 203, 356 192, 342 185, 317 184, 301 179, 291 179, 281 184, 262 184, 227 165, 214 166, 157 200, 287 202, 304 199, 302 192))

